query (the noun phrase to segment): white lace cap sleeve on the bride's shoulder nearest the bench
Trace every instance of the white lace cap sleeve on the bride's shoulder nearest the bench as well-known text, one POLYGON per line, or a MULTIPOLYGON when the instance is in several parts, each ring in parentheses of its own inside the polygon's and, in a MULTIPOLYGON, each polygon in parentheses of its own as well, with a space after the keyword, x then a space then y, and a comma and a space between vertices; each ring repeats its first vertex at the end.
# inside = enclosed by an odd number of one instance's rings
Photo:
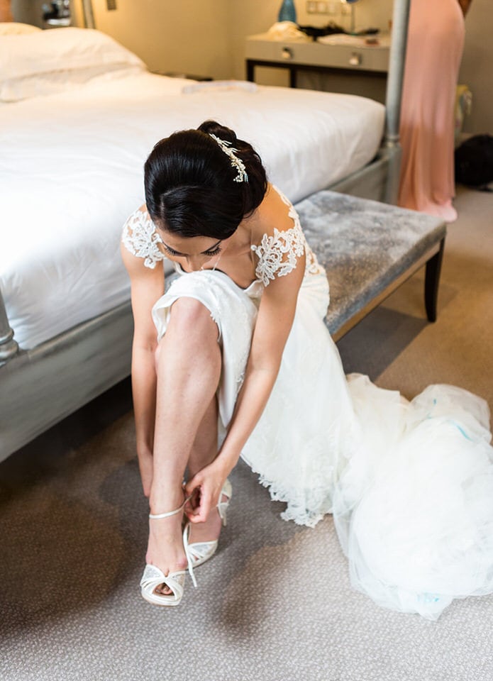
POLYGON ((274 229, 274 234, 268 236, 264 234, 260 245, 252 245, 250 248, 257 255, 258 263, 255 268, 255 275, 267 286, 275 277, 289 275, 297 266, 298 258, 306 253, 305 274, 318 275, 324 272, 323 267, 318 264, 316 255, 306 243, 299 216, 293 204, 287 199, 277 187, 275 191, 281 197, 284 204, 289 206, 289 217, 294 222, 294 227, 285 232, 274 229))

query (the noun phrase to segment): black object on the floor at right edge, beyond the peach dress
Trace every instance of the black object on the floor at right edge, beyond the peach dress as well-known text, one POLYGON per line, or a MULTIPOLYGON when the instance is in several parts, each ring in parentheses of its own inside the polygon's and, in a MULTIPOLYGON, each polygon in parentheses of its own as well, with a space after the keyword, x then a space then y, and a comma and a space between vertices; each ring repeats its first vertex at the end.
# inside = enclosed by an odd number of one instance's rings
POLYGON ((493 136, 473 135, 455 150, 455 182, 466 187, 492 192, 493 136))

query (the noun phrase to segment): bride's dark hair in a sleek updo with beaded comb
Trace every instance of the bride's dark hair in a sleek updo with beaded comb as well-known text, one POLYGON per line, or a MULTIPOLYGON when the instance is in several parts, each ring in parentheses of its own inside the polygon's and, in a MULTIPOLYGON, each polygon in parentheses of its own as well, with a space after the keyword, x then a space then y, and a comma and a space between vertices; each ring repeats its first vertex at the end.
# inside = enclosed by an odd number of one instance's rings
POLYGON ((267 176, 252 145, 230 128, 205 121, 155 145, 145 162, 144 187, 148 213, 158 227, 184 237, 226 239, 260 206, 267 176), (248 182, 236 182, 238 169, 211 135, 231 143, 248 182))

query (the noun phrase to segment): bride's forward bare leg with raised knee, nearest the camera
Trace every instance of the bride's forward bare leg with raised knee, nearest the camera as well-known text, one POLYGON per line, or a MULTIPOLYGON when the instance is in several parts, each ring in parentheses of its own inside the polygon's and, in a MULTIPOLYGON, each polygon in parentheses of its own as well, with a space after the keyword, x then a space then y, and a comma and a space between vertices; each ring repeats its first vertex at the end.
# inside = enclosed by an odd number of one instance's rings
MULTIPOLYGON (((152 514, 183 503, 182 480, 193 445, 202 436, 211 440, 201 425, 211 423, 209 412, 221 375, 217 338, 216 323, 199 301, 180 298, 173 304, 157 359, 152 514)), ((181 524, 182 514, 149 521, 146 560, 165 575, 187 566, 181 524)), ((168 593, 166 587, 162 593, 168 593)))

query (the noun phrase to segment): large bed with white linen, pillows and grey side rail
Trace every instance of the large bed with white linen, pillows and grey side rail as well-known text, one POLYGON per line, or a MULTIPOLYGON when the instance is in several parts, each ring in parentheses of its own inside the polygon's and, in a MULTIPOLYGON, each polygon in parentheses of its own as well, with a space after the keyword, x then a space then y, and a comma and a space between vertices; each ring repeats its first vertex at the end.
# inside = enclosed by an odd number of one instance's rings
POLYGON ((157 140, 216 118, 294 202, 325 188, 392 202, 399 162, 375 101, 165 77, 99 31, 14 28, 0 28, 0 460, 130 372, 119 240, 157 140))

